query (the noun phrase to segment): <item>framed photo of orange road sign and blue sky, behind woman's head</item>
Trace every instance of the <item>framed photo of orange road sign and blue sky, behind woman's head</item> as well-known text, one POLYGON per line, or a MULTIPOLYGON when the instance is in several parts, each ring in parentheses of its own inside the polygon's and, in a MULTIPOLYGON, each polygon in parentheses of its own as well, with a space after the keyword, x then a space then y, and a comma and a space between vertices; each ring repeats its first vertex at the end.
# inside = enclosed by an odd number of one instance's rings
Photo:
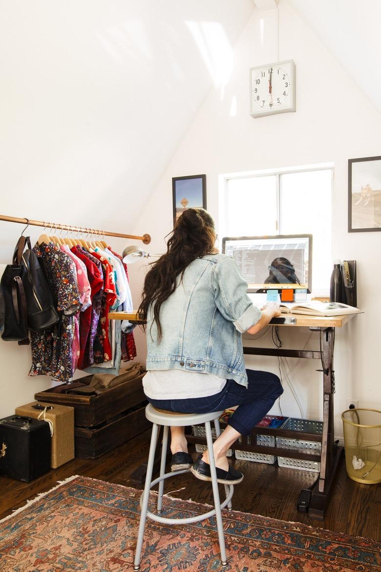
POLYGON ((172 178, 173 225, 186 209, 206 209, 206 175, 172 178))

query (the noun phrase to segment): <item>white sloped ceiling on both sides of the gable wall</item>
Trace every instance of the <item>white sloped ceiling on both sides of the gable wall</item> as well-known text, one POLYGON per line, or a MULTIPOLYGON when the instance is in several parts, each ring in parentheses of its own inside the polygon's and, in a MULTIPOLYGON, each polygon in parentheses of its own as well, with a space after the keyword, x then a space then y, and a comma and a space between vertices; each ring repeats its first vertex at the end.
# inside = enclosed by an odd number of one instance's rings
MULTIPOLYGON (((280 2, 381 111, 381 2, 280 2)), ((274 5, 260 0, 261 8, 274 5)), ((210 89, 223 90, 234 45, 259 9, 255 0, 0 6, 1 211, 35 219, 45 212, 51 220, 63 195, 70 217, 63 206, 57 219, 83 225, 87 193, 93 204, 107 198, 123 206, 115 212, 119 228, 142 212, 210 89)), ((105 228, 108 206, 91 210, 93 227, 105 228)))

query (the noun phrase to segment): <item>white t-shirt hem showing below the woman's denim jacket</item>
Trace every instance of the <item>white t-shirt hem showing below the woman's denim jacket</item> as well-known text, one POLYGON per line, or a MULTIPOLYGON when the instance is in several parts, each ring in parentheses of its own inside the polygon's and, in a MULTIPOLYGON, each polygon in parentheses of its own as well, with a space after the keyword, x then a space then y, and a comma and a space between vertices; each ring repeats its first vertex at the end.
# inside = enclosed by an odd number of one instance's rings
POLYGON ((219 393, 225 378, 182 370, 150 370, 143 378, 143 389, 151 399, 192 399, 219 393))

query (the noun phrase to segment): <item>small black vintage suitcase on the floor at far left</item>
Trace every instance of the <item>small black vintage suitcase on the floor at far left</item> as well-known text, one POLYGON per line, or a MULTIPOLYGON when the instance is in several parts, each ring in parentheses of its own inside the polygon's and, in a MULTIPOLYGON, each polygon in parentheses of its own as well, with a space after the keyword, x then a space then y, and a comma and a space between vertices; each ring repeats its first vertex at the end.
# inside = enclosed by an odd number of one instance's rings
POLYGON ((0 474, 37 479, 50 470, 50 428, 45 421, 11 415, 0 419, 0 474))

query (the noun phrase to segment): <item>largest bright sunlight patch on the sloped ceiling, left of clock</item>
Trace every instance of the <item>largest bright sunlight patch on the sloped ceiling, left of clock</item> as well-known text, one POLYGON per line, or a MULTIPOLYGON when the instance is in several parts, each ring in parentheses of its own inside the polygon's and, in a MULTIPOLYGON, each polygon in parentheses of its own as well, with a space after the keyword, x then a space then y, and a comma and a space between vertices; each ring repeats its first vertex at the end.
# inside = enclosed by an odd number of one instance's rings
POLYGON ((226 33, 218 22, 185 22, 202 55, 215 88, 220 88, 220 100, 230 79, 234 55, 226 33))

